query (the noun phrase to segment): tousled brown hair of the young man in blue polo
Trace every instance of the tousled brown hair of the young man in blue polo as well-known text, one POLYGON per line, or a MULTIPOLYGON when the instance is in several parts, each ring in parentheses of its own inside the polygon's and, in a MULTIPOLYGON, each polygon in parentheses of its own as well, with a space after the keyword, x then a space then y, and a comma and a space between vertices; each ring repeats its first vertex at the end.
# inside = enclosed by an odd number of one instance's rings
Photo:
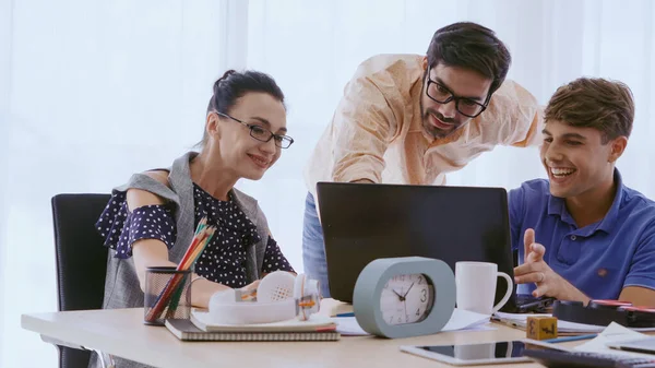
POLYGON ((617 81, 580 78, 564 84, 550 97, 545 120, 559 120, 573 127, 594 128, 603 133, 603 144, 630 136, 634 99, 630 88, 617 81))

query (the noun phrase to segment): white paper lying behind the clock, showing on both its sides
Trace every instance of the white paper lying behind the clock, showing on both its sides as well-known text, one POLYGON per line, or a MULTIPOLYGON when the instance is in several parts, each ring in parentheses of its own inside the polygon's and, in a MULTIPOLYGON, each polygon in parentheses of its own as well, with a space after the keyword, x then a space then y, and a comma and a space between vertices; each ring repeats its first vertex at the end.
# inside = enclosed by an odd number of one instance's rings
MULTIPOLYGON (((483 325, 489 321, 489 317, 488 314, 455 308, 453 316, 451 316, 451 319, 441 329, 441 332, 492 330, 492 328, 483 325)), ((333 317, 332 321, 336 323, 336 331, 344 336, 364 336, 369 334, 359 327, 355 317, 333 317)))

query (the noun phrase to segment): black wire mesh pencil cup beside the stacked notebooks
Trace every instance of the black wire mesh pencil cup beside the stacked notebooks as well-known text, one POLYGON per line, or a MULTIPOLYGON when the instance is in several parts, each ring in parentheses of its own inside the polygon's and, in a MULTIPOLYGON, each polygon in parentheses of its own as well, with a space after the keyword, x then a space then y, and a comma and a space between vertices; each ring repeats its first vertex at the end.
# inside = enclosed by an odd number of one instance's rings
POLYGON ((171 266, 147 268, 143 300, 143 323, 164 325, 167 319, 191 317, 191 270, 171 266))

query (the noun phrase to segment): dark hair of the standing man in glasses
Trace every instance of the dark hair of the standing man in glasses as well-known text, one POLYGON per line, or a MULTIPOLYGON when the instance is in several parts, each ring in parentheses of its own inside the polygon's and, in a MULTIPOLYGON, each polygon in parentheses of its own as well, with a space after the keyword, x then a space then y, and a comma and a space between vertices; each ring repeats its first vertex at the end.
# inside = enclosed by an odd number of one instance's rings
POLYGON ((512 63, 510 51, 496 33, 472 22, 453 23, 438 29, 427 57, 429 69, 443 63, 471 69, 490 79, 489 96, 500 87, 512 63))

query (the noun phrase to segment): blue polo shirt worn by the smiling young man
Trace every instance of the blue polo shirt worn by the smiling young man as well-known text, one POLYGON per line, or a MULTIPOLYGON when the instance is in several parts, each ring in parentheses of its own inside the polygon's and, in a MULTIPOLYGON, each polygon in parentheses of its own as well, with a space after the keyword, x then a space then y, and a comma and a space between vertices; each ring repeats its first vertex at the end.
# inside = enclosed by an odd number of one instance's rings
MULTIPOLYGON (((548 180, 524 182, 509 193, 512 249, 523 263, 523 235, 535 229, 545 261, 592 299, 618 299, 626 286, 655 289, 655 202, 623 186, 615 170, 617 194, 602 221, 579 228, 548 180)), ((528 294, 535 284, 519 285, 528 294)))

